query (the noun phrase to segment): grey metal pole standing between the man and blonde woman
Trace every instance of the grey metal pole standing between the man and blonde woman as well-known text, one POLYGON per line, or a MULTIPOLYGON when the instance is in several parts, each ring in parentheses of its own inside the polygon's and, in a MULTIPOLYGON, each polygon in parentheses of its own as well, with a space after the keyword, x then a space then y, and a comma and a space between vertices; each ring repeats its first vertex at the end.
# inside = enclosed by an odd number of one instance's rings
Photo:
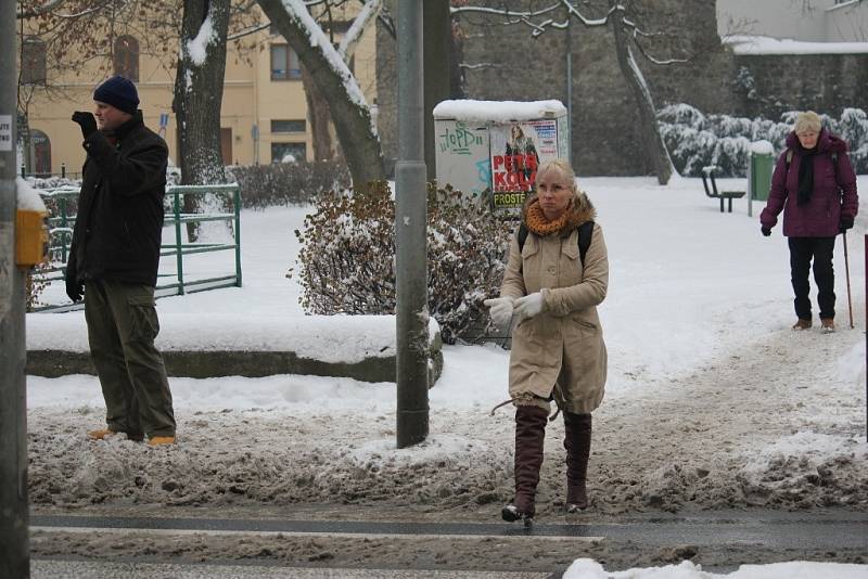
POLYGON ((395 164, 398 448, 427 436, 427 260, 422 0, 398 2, 398 160, 395 164))

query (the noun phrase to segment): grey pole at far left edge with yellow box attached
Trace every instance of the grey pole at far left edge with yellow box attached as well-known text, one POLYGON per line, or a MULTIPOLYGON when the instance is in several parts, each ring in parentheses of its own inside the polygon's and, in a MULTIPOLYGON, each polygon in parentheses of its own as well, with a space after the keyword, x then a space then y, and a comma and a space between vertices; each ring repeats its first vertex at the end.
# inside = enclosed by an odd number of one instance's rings
POLYGON ((0 1, 0 577, 30 577, 24 274, 15 267, 15 1, 0 1))

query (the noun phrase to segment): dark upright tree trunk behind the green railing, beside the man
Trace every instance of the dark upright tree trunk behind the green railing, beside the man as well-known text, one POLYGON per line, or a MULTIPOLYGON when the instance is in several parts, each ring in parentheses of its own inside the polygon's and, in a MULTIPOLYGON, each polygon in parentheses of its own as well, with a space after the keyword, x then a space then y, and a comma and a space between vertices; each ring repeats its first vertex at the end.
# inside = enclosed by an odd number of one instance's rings
MULTIPOLYGON (((226 35, 230 0, 184 0, 181 25, 181 52, 175 78, 173 111, 178 125, 178 166, 181 184, 226 182, 220 154, 220 106, 226 74, 226 35), (209 20, 210 41, 201 41, 203 24, 209 20), (191 46, 193 44, 193 46, 191 46), (204 59, 191 48, 205 49, 204 59)), ((199 197, 184 196, 184 213, 195 213, 199 197)), ((197 237, 196 223, 188 223, 191 241, 197 237)))

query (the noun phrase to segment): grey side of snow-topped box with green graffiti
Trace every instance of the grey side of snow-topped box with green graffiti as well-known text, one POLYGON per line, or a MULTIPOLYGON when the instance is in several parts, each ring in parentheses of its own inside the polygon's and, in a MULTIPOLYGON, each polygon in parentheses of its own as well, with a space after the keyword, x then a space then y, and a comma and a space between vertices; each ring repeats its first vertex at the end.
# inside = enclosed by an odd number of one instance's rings
POLYGON ((492 183, 488 127, 455 119, 434 119, 437 185, 478 195, 492 183))

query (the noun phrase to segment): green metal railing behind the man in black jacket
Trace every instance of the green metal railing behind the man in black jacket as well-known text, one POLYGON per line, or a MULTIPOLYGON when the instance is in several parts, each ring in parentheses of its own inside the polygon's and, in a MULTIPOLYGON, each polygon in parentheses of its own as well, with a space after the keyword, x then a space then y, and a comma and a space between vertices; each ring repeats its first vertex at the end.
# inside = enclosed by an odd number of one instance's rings
MULTIPOLYGON (((76 203, 78 188, 63 186, 53 190, 40 191, 42 200, 49 209, 49 263, 38 267, 33 274, 34 283, 48 286, 53 282, 63 283, 66 261, 69 255, 69 243, 73 239, 73 228, 76 219, 76 203)), ((164 228, 171 228, 174 243, 164 243, 161 246, 161 273, 157 279, 155 295, 157 297, 184 295, 218 287, 241 287, 241 192, 237 183, 226 185, 170 185, 166 188, 166 215, 164 228), (209 202, 220 207, 231 207, 231 211, 213 213, 183 213, 187 196, 206 196, 209 202), (207 243, 188 241, 187 227, 189 223, 204 223, 210 221, 225 221, 231 233, 230 243, 207 243), (226 275, 202 276, 190 271, 190 256, 214 252, 231 252, 233 268, 227 268, 226 275), (169 257, 175 265, 175 271, 166 271, 165 263, 169 257), (187 261, 187 263, 186 263, 187 261)), ((54 292, 56 294, 56 292, 54 292)), ((42 296, 46 295, 43 290, 42 296)), ((33 308, 34 311, 65 311, 80 308, 64 298, 60 304, 44 304, 40 296, 40 304, 33 308)), ((56 300, 55 300, 56 301, 56 300)))

